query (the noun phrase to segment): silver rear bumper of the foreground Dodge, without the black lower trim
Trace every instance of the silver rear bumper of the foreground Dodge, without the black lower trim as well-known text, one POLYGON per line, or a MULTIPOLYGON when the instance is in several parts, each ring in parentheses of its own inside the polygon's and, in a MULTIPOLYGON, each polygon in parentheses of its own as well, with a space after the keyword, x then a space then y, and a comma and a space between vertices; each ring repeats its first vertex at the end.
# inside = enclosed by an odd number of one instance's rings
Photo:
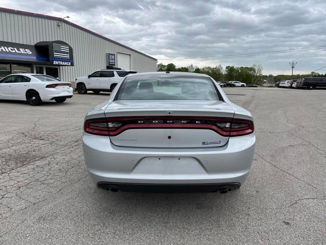
POLYGON ((94 183, 213 184, 246 180, 254 155, 254 134, 231 137, 221 147, 135 148, 84 132, 87 169, 94 183))

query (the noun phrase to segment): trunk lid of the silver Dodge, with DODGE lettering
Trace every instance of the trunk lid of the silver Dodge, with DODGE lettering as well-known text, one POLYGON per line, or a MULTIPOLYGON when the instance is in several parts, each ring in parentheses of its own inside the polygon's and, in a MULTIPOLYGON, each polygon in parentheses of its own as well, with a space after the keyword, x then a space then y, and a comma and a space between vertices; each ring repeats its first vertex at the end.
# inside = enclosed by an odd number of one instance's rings
POLYGON ((113 144, 146 148, 223 146, 234 116, 223 101, 114 101, 104 113, 113 144))

